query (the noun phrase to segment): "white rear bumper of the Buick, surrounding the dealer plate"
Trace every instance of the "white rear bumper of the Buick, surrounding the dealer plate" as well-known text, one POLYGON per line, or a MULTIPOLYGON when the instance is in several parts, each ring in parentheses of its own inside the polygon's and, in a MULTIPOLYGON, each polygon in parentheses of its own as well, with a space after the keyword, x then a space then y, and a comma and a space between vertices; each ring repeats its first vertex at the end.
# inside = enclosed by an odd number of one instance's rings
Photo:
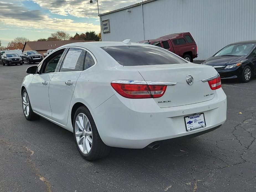
POLYGON ((92 111, 102 141, 111 147, 141 149, 155 141, 204 133, 226 121, 222 89, 212 100, 159 108, 154 99, 127 99, 118 94, 92 111), (184 116, 204 113, 206 127, 186 131, 184 116))

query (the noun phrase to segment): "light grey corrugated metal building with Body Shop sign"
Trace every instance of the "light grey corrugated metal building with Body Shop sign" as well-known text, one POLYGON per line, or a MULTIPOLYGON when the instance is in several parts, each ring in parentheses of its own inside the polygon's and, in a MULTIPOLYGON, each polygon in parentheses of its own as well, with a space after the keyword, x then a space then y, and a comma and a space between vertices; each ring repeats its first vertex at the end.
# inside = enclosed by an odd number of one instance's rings
POLYGON ((256 40, 256 0, 148 0, 101 14, 102 41, 132 42, 190 32, 198 58, 237 41, 256 40))

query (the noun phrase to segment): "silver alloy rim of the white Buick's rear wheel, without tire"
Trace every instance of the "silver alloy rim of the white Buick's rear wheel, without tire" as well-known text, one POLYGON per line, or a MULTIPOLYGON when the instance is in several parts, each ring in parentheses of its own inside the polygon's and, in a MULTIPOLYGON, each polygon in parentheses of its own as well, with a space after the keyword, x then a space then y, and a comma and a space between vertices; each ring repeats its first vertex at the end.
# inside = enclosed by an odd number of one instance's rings
POLYGON ((92 128, 89 119, 84 113, 76 116, 76 142, 82 153, 88 154, 92 149, 92 128))

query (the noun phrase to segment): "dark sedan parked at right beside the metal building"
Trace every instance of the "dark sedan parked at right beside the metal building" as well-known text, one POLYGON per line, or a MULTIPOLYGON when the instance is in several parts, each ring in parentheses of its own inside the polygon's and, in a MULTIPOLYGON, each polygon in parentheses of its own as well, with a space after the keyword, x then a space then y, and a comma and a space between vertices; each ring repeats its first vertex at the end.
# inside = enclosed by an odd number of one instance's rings
POLYGON ((256 40, 231 43, 202 64, 213 66, 222 79, 249 82, 256 72, 256 40))

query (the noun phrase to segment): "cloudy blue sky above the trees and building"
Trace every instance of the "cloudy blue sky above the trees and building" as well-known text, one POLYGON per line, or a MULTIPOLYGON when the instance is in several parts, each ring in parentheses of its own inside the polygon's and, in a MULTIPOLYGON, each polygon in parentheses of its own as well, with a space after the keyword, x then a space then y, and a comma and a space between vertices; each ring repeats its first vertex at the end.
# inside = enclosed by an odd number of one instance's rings
MULTIPOLYGON (((142 0, 99 0, 100 13, 142 0)), ((0 0, 0 40, 6 46, 15 37, 47 38, 52 32, 100 32, 97 2, 89 0, 0 0)))

